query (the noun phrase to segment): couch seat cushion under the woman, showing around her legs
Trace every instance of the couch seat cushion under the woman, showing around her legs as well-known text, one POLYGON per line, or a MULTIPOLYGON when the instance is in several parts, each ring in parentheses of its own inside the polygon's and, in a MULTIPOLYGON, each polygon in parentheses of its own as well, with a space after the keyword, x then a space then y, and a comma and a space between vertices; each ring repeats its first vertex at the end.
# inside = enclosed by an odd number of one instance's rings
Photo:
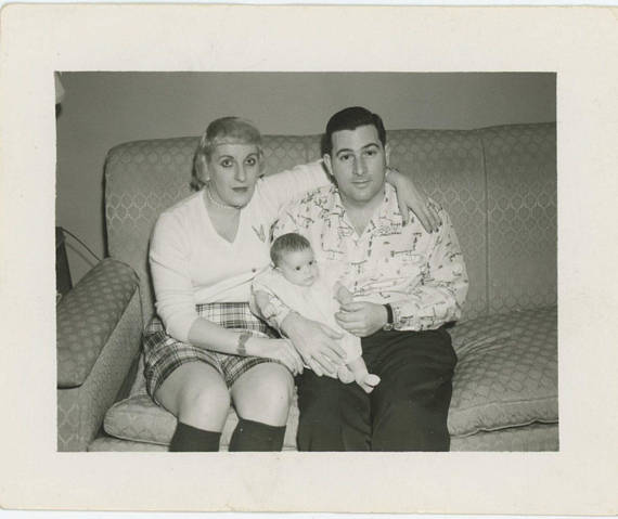
MULTIPOLYGON (((221 434, 221 447, 227 449, 239 418, 230 408, 230 414, 221 434)), ((287 428, 283 441, 284 449, 296 447, 296 429, 298 407, 293 406, 287 419, 287 428)), ((176 429, 176 417, 155 404, 145 393, 137 393, 117 402, 105 415, 105 432, 110 436, 130 441, 142 441, 169 445, 176 429)))

